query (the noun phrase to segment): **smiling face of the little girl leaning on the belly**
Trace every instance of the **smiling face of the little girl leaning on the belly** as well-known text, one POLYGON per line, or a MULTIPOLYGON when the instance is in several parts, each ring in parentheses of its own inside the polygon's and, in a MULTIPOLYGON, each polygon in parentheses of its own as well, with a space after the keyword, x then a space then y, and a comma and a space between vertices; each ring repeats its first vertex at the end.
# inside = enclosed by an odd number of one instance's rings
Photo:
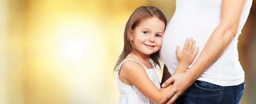
POLYGON ((162 46, 165 24, 156 17, 142 21, 131 31, 131 40, 137 51, 145 55, 157 52, 162 46))

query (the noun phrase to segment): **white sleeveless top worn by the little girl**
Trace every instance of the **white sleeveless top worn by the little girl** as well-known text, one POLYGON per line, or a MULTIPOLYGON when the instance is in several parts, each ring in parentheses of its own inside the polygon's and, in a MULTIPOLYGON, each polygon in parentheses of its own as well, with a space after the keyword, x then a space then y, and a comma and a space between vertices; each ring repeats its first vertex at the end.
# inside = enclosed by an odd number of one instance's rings
MULTIPOLYGON (((118 104, 154 104, 154 102, 150 101, 148 98, 146 98, 135 86, 133 85, 126 85, 122 83, 119 79, 119 69, 121 68, 122 64, 127 61, 135 61, 131 58, 125 59, 122 61, 122 63, 119 65, 118 71, 116 73, 117 76, 117 84, 120 92, 120 96, 118 99, 118 104)), ((154 69, 147 69, 146 66, 139 63, 138 61, 135 61, 138 64, 142 65, 145 68, 145 71, 147 72, 148 77, 150 80, 157 86, 158 89, 161 89, 160 82, 157 77, 157 73, 154 69)))

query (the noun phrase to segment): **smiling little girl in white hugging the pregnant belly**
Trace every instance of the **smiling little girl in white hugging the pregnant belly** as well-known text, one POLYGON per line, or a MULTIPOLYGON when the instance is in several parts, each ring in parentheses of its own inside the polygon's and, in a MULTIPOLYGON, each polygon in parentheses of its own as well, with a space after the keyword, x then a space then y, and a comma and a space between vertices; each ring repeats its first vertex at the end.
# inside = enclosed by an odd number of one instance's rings
MULTIPOLYGON (((159 104, 172 86, 162 88, 154 70, 160 66, 158 50, 162 45, 166 17, 153 6, 141 6, 125 26, 124 49, 114 67, 120 97, 118 104, 159 104), (150 60, 153 64, 150 63, 150 60)), ((177 46, 176 73, 186 72, 197 55, 195 41, 187 39, 182 53, 177 46)))

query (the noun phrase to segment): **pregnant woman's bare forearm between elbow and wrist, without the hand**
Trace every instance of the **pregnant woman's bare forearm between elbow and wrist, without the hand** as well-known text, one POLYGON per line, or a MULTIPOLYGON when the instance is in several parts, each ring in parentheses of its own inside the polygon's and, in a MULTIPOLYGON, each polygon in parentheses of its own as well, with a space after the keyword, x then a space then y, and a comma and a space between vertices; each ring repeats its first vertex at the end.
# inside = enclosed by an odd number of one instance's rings
POLYGON ((195 81, 211 64, 223 54, 224 50, 236 36, 237 29, 219 25, 207 41, 201 54, 189 69, 189 75, 195 81))

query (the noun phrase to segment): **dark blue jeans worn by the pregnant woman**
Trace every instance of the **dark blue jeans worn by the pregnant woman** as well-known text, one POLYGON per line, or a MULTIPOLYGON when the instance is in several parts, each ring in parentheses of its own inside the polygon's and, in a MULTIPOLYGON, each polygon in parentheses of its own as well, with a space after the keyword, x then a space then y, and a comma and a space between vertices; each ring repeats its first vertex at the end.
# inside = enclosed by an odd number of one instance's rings
POLYGON ((177 98, 177 104, 238 104, 245 84, 222 87, 206 81, 195 81, 186 92, 177 98))

